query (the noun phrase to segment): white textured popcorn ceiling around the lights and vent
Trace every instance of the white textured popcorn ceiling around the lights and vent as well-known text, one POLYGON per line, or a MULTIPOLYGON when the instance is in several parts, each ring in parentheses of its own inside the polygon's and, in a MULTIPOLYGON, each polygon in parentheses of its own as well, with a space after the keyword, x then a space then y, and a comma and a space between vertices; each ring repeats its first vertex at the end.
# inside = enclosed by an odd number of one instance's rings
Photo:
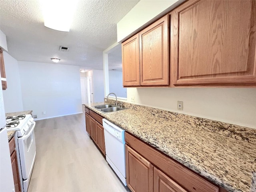
MULTIPOLYGON (((44 27, 39 0, 0 0, 0 29, 6 34, 8 53, 18 61, 78 65, 103 69, 102 51, 117 40, 116 24, 139 0, 80 0, 70 32, 44 27), (60 52, 59 46, 69 47, 60 52)), ((121 48, 109 54, 111 66, 120 70, 121 48)))

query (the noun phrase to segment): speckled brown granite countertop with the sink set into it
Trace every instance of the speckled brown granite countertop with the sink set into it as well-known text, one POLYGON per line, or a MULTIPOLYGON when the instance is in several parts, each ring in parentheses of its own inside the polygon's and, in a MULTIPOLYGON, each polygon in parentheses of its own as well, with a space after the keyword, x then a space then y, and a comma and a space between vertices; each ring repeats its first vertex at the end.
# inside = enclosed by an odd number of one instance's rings
POLYGON ((92 108, 100 104, 85 106, 226 190, 255 192, 256 130, 128 103, 92 108))

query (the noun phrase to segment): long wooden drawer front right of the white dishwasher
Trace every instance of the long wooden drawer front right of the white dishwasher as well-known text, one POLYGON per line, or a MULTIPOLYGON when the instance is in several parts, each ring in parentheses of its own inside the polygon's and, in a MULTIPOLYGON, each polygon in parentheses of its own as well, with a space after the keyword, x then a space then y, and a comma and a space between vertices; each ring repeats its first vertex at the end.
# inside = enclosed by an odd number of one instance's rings
POLYGON ((218 186, 208 182, 185 166, 172 160, 172 158, 167 157, 127 132, 125 133, 125 142, 154 166, 163 170, 166 175, 182 186, 182 188, 191 192, 218 192, 218 186))

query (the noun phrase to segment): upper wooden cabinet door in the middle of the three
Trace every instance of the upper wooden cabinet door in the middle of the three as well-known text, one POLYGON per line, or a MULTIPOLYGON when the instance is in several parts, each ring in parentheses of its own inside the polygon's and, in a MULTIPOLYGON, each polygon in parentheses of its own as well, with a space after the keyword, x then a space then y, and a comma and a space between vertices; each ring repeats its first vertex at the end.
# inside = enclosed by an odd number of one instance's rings
POLYGON ((168 15, 140 32, 140 84, 169 85, 168 15))

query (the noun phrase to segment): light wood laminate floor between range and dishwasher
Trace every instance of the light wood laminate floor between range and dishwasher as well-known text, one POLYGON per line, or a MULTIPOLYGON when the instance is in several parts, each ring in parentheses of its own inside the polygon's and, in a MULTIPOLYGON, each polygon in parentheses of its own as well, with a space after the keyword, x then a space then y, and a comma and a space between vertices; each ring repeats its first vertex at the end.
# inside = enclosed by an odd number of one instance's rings
POLYGON ((85 130, 84 114, 36 121, 28 192, 125 192, 85 130))

